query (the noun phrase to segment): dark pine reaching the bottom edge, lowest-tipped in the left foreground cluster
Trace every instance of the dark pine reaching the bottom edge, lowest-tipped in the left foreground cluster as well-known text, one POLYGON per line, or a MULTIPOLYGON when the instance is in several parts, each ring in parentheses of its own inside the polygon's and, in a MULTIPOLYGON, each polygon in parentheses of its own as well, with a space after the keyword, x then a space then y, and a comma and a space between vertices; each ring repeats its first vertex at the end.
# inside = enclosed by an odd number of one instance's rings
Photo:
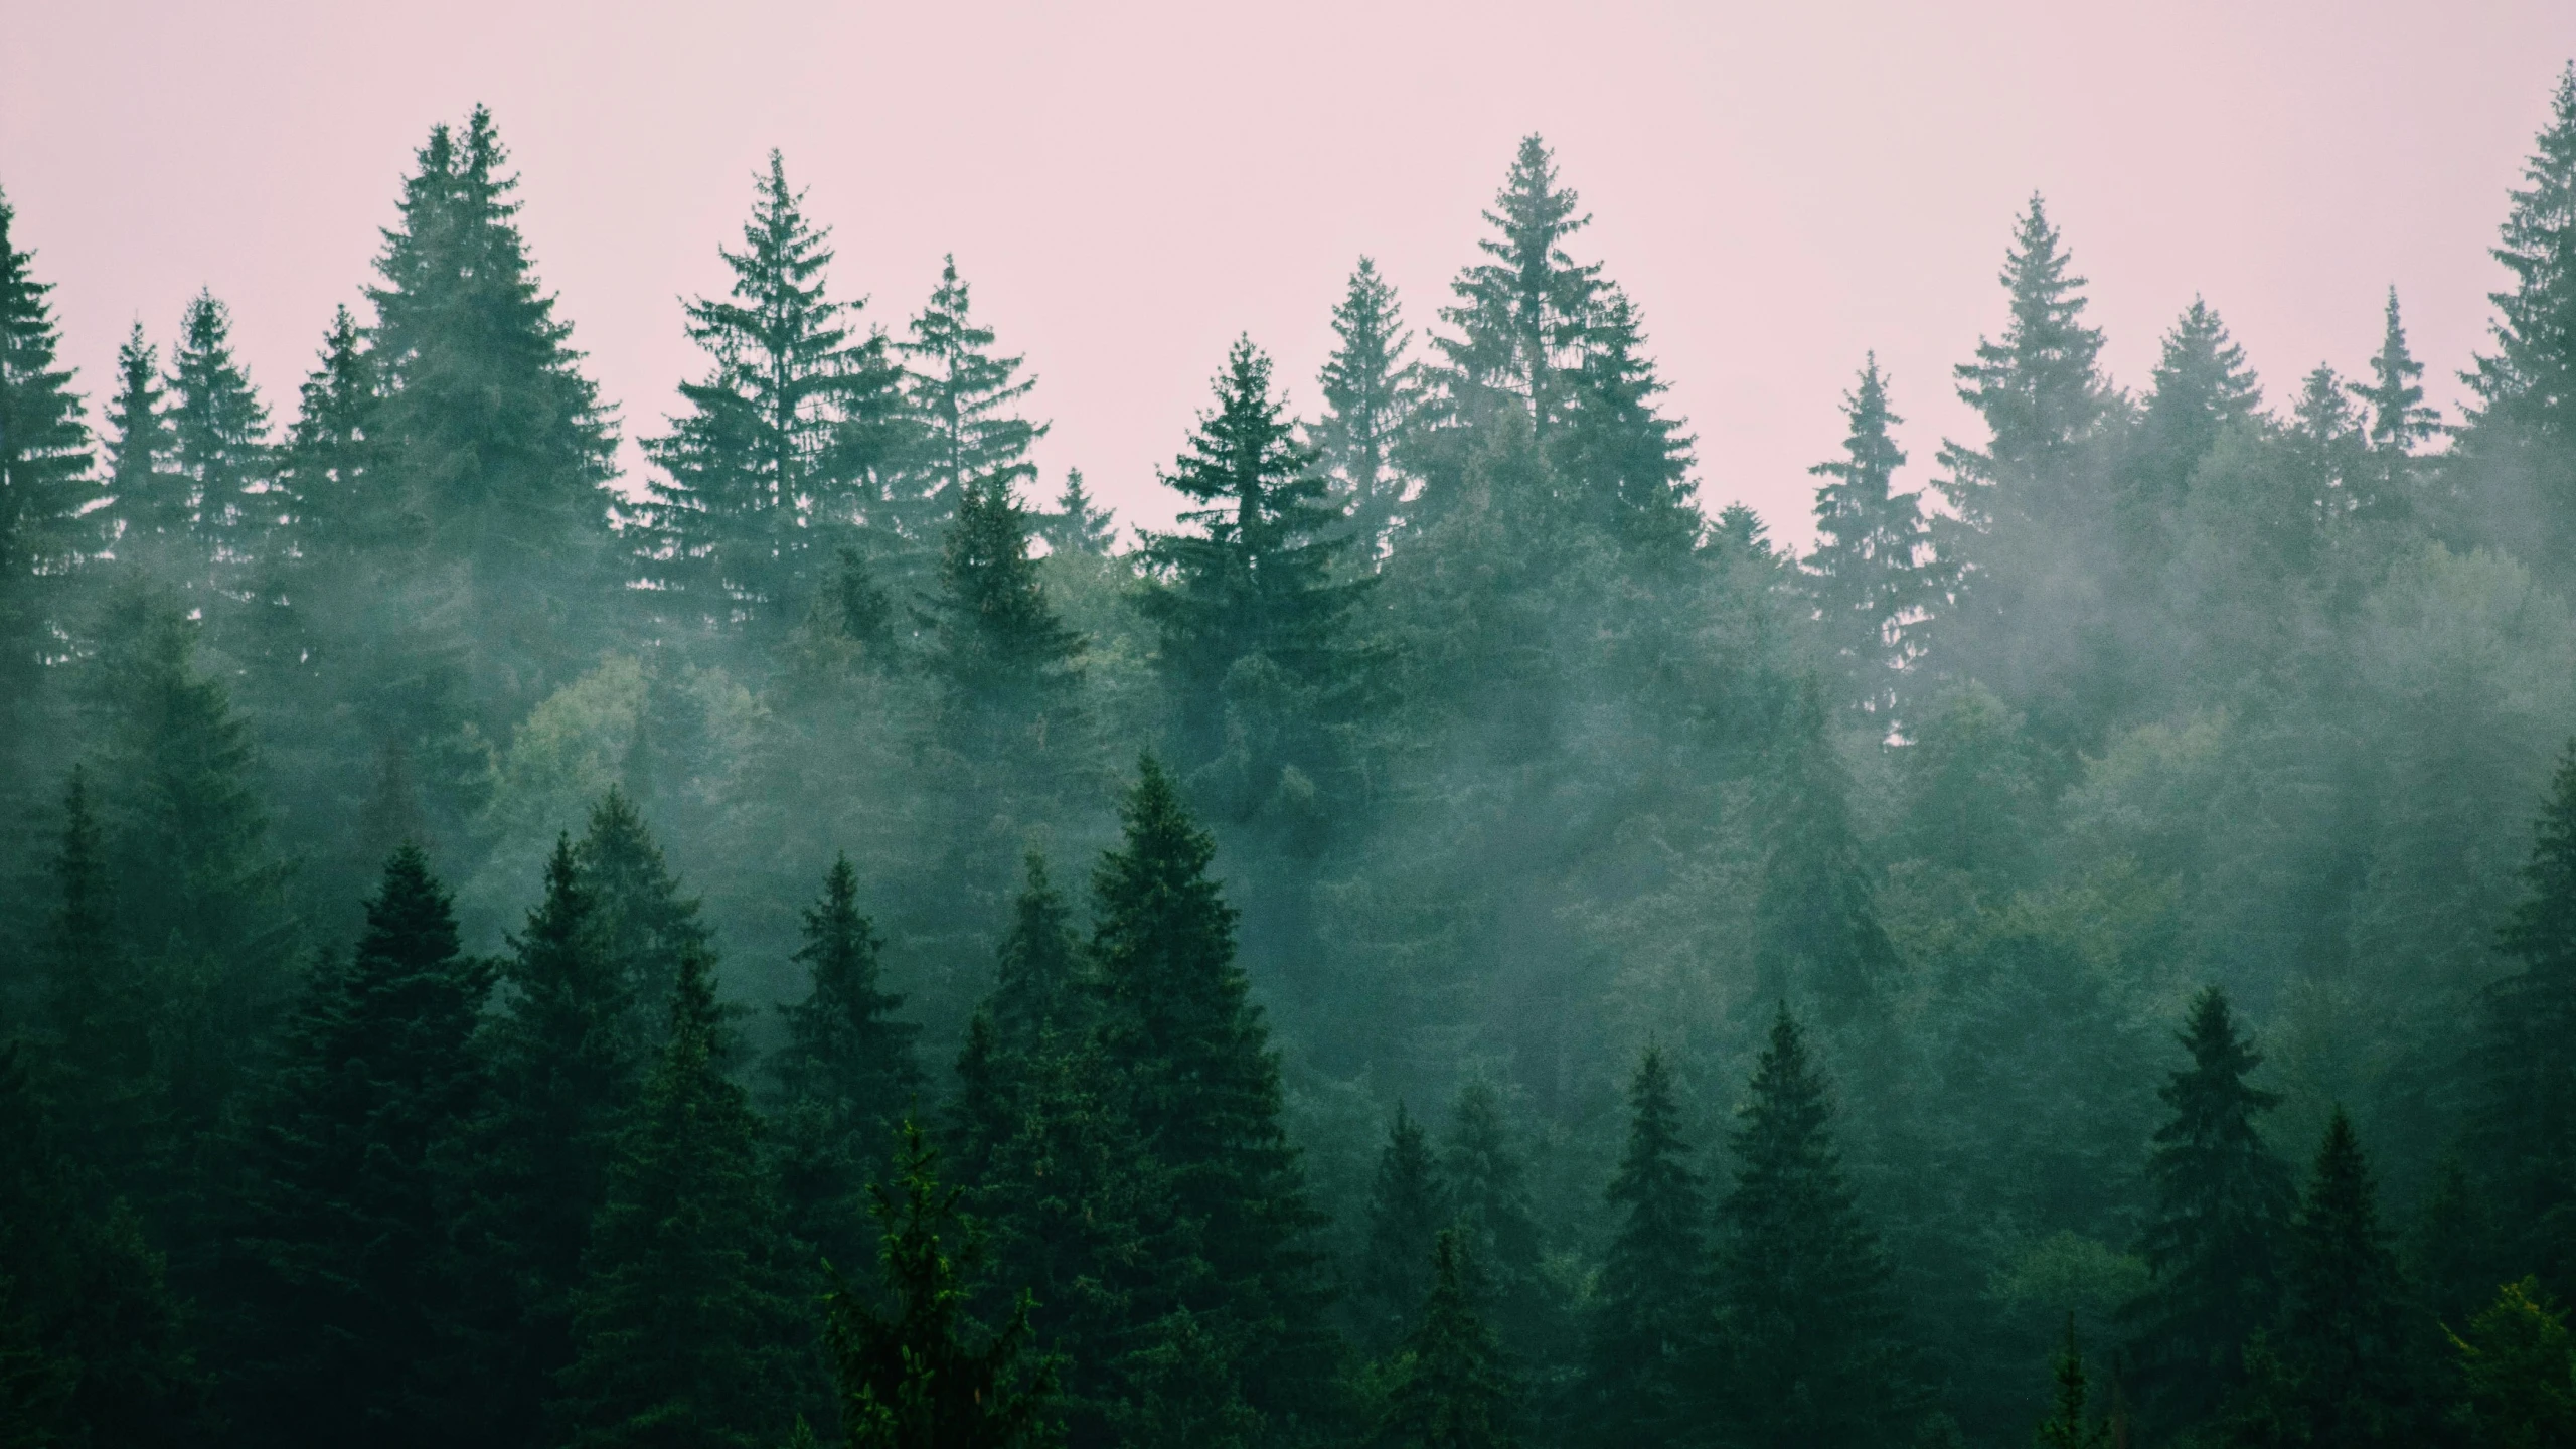
POLYGON ((801 1397, 788 1245, 726 1036, 714 962, 690 944, 572 1297, 554 1413, 574 1446, 775 1444, 801 1397))

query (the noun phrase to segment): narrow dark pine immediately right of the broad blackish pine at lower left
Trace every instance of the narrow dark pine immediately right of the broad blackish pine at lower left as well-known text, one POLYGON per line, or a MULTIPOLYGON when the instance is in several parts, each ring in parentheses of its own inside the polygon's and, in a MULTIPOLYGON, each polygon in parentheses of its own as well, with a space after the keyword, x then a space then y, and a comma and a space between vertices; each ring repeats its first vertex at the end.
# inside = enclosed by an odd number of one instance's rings
POLYGON ((536 1444, 551 1379, 572 1359, 582 1245, 641 1075, 631 990, 600 949, 598 900, 569 835, 556 838, 546 897, 500 980, 505 1011, 482 1047, 492 1098, 459 1152, 471 1194, 459 1240, 487 1341, 479 1434, 536 1444))

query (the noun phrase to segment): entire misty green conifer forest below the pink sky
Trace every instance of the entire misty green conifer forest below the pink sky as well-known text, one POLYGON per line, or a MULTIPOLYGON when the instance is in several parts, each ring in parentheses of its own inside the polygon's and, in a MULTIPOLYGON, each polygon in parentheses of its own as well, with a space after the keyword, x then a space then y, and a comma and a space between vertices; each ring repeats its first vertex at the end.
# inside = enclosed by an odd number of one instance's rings
POLYGON ((484 108, 291 397, 0 201, 0 1446, 2576 1444, 2576 67, 2458 415, 2032 196, 1806 552, 1494 160, 1172 531, 775 152, 629 413, 484 108))

